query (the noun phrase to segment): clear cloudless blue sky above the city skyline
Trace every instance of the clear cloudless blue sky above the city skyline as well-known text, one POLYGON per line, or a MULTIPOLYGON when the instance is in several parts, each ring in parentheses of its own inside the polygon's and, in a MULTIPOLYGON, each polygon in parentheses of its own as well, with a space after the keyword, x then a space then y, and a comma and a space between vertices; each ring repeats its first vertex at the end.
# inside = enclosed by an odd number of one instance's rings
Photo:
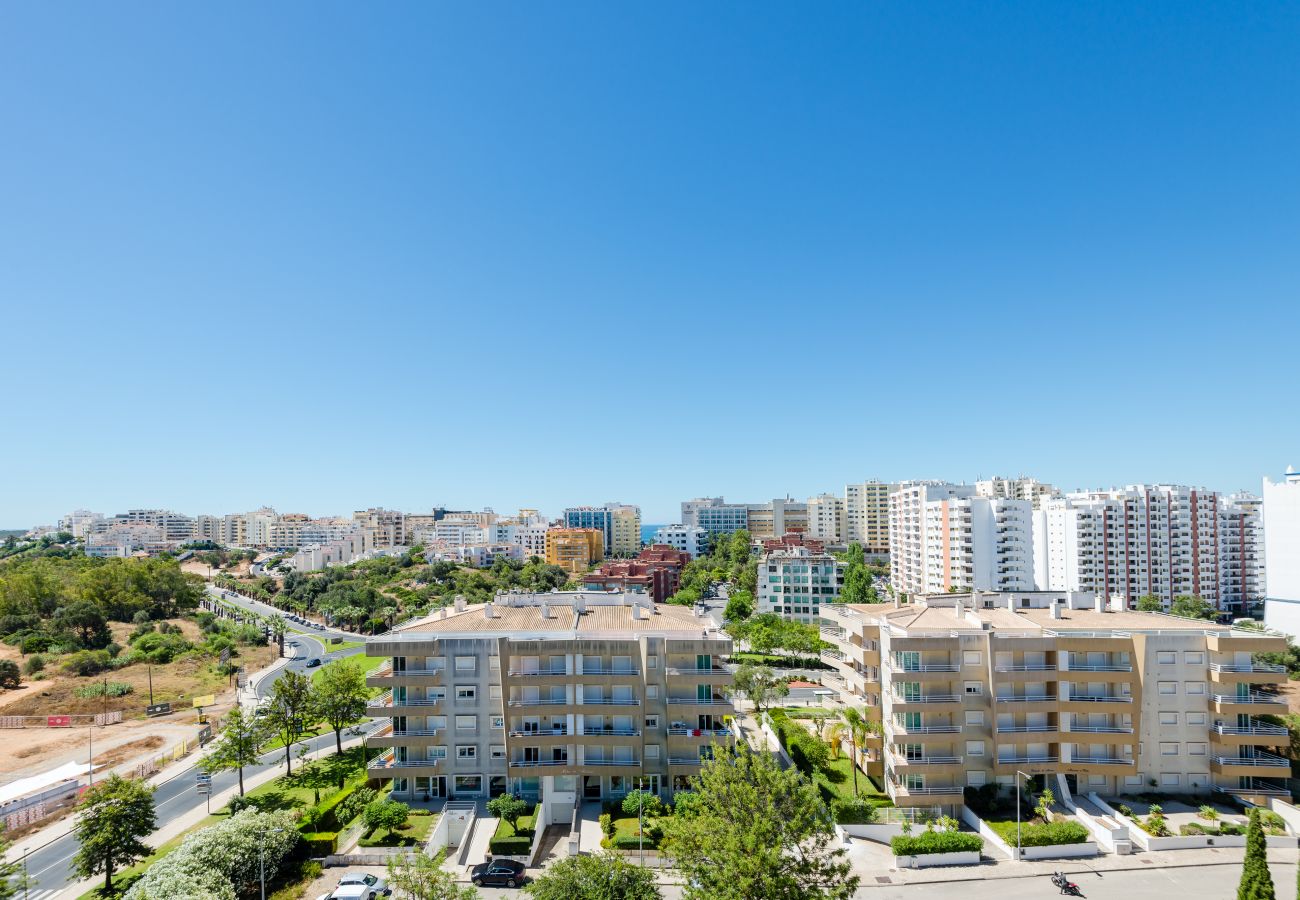
POLYGON ((0 5, 0 527, 1300 466, 1300 5, 0 5))

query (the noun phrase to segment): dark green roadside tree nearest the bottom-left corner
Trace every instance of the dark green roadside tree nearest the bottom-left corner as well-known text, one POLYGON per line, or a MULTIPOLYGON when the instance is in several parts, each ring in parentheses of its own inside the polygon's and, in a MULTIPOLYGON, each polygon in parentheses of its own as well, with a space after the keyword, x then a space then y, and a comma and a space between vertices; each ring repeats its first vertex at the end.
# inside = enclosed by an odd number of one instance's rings
POLYGON ((153 851, 142 840, 153 834, 153 788, 121 775, 109 775, 82 795, 73 836, 78 851, 73 866, 82 878, 104 873, 104 893, 113 891, 113 871, 153 851))

